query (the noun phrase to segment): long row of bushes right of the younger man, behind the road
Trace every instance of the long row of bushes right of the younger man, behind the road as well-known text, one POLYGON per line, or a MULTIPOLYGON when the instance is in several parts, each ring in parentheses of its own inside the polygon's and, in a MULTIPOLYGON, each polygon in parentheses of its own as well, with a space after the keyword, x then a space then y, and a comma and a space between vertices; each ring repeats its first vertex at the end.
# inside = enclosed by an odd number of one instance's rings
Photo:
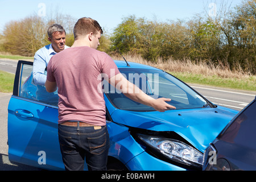
POLYGON ((115 28, 112 39, 110 52, 119 48, 153 63, 159 58, 205 60, 255 75, 256 1, 244 1, 235 11, 214 19, 195 16, 188 22, 166 23, 128 16, 115 28))

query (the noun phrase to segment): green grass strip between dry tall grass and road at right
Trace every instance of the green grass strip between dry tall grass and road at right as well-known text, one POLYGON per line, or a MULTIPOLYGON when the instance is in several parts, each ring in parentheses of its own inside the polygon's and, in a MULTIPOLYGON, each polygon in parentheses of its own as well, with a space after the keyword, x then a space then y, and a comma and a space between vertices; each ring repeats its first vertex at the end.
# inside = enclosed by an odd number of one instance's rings
POLYGON ((254 92, 256 91, 256 76, 250 76, 248 78, 238 79, 238 78, 223 78, 215 75, 204 76, 204 75, 196 75, 193 73, 180 73, 180 72, 171 72, 171 74, 186 83, 217 86, 221 88, 247 90, 247 91, 254 91, 254 92))

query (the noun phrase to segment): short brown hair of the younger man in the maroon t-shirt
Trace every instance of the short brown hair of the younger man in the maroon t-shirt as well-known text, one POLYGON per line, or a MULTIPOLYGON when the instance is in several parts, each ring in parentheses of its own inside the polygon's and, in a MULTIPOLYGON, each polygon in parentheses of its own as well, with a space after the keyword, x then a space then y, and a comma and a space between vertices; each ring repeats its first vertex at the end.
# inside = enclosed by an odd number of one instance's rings
POLYGON ((93 34, 97 34, 97 31, 103 34, 102 28, 98 22, 92 18, 80 18, 77 20, 74 27, 74 37, 75 40, 79 36, 85 36, 93 32, 93 34))

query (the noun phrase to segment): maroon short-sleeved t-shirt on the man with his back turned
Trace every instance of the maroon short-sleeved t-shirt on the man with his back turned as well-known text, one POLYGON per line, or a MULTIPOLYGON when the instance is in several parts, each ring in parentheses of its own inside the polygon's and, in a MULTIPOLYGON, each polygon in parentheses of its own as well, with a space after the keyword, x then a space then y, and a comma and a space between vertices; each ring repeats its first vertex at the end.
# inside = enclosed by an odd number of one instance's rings
POLYGON ((106 125, 101 74, 108 78, 120 73, 105 52, 90 47, 71 47, 51 58, 47 80, 56 82, 59 94, 59 123, 83 121, 106 125))

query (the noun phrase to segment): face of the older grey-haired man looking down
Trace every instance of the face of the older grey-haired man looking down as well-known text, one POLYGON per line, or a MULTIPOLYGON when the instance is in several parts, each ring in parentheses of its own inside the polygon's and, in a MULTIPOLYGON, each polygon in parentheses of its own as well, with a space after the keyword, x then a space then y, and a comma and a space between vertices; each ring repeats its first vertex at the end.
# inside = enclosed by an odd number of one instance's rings
POLYGON ((49 42, 52 43, 52 48, 55 52, 64 50, 66 34, 65 32, 53 32, 52 38, 48 38, 49 42))

